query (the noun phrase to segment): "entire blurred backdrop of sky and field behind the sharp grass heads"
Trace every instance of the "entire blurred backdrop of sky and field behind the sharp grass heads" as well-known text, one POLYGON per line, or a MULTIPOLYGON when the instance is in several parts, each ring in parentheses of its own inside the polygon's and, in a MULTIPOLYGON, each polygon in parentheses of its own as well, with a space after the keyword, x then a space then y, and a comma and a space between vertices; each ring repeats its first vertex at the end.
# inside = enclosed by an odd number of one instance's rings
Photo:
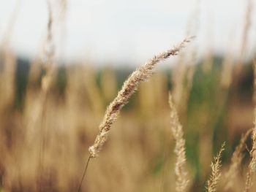
MULTIPOLYGON (((189 191, 223 142, 253 126, 255 0, 0 0, 0 191, 77 191, 105 109, 137 66, 157 66, 113 126, 81 191, 175 191, 168 92, 186 139, 189 191)), ((246 142, 250 147, 250 139, 246 142)), ((249 154, 233 186, 242 191, 249 154)))

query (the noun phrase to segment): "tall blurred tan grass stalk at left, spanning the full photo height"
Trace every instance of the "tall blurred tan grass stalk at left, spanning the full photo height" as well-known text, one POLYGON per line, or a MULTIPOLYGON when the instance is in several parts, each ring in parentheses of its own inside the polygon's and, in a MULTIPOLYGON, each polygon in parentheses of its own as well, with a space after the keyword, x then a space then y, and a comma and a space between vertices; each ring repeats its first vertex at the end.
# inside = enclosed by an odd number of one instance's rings
MULTIPOLYGON (((50 4, 50 0, 47 1, 48 3, 48 26, 47 26, 47 37, 45 41, 45 50, 44 50, 44 56, 45 61, 44 65, 42 66, 44 69, 44 74, 42 75, 41 80, 41 90, 39 92, 37 108, 35 109, 36 113, 33 115, 34 120, 31 121, 33 124, 30 124, 29 126, 37 127, 37 123, 39 125, 39 161, 38 161, 38 178, 37 178, 37 188, 39 188, 39 191, 47 191, 47 187, 44 184, 44 180, 48 180, 50 177, 48 174, 45 174, 46 171, 46 160, 48 153, 46 152, 46 148, 48 145, 48 126, 46 126, 47 122, 47 104, 48 104, 48 97, 50 92, 50 86, 53 82, 53 58, 54 58, 54 50, 55 47, 53 45, 53 11, 52 11, 52 5, 50 4)), ((31 119, 33 119, 31 118, 31 119)), ((30 129, 30 128, 29 128, 30 129)))

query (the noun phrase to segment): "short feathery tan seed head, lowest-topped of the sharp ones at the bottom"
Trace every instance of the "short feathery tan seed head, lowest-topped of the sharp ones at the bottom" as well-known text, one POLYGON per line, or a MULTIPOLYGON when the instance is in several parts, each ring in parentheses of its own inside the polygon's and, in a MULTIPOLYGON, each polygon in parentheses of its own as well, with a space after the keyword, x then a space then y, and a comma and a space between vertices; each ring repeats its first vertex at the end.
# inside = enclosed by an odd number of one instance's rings
POLYGON ((217 191, 217 184, 219 182, 219 178, 221 176, 221 166, 222 161, 220 158, 222 157, 222 152, 225 150, 225 142, 222 144, 222 147, 219 150, 217 156, 214 157, 214 161, 211 162, 211 177, 208 179, 206 184, 206 191, 214 192, 217 191))

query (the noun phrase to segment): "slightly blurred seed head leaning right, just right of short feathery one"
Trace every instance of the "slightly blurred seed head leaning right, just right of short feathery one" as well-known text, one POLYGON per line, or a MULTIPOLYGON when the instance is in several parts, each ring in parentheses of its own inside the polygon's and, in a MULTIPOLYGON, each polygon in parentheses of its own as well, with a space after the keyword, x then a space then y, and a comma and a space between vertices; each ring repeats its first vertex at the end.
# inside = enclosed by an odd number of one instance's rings
POLYGON ((244 158, 244 155, 242 152, 245 147, 245 142, 246 142, 246 139, 249 137, 249 134, 251 134, 251 132, 252 130, 248 130, 246 131, 245 134, 242 135, 239 145, 236 147, 236 150, 232 155, 230 167, 225 174, 225 180, 227 182, 225 184, 225 191, 230 190, 230 188, 232 188, 232 186, 234 185, 234 181, 238 174, 239 166, 241 166, 241 161, 244 158))

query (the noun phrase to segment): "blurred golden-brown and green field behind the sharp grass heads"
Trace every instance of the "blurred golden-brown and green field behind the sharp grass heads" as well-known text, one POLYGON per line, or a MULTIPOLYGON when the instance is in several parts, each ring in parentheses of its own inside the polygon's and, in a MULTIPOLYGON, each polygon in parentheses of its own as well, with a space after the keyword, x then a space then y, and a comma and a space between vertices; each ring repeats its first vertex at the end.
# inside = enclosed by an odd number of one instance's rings
MULTIPOLYGON (((241 47, 241 60, 211 53, 197 61, 189 48, 176 56, 176 65, 140 84, 91 160, 81 191, 176 191, 169 92, 184 128, 188 191, 206 191, 213 156, 226 142, 218 183, 225 191, 233 151, 255 119, 253 58, 244 59, 241 47)), ((77 191, 105 109, 135 70, 98 69, 86 61, 46 64, 1 48, 0 191, 77 191)), ((244 191, 251 159, 246 147, 229 191, 244 191)))

